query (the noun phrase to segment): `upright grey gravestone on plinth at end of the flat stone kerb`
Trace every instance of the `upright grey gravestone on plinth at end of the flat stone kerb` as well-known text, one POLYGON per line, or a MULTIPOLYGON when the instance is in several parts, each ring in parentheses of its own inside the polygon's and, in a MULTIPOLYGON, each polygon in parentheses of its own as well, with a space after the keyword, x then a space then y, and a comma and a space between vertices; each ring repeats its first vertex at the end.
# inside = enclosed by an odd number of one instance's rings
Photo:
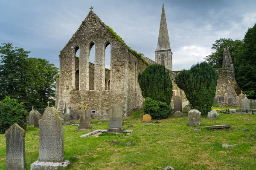
POLYGON ((108 133, 123 133, 122 129, 122 107, 113 105, 109 109, 108 133))

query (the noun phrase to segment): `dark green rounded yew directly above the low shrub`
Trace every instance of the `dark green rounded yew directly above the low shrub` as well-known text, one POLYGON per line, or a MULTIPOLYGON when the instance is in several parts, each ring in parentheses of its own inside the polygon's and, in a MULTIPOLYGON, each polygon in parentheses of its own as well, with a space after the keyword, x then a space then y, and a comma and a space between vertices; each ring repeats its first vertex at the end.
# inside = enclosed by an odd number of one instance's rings
POLYGON ((139 73, 138 80, 144 98, 151 98, 155 101, 166 102, 168 105, 172 100, 172 81, 169 71, 165 66, 153 64, 139 73))

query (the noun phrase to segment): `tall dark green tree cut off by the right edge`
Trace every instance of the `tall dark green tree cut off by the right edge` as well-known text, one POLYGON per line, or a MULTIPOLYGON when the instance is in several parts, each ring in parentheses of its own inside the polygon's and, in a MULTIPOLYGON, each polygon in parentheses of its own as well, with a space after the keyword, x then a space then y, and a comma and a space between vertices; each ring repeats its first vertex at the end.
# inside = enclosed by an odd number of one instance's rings
POLYGON ((256 24, 244 35, 244 44, 234 66, 240 88, 248 98, 256 99, 256 24))

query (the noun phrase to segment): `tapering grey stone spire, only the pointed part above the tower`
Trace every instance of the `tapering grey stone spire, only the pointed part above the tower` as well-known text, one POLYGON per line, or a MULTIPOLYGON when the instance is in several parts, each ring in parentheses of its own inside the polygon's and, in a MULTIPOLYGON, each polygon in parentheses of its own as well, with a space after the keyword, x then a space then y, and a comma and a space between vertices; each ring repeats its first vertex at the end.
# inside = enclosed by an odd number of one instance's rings
POLYGON ((170 46, 170 40, 168 35, 167 23, 166 23, 166 15, 165 15, 164 6, 163 6, 156 51, 168 50, 168 49, 170 50, 171 46, 170 46))

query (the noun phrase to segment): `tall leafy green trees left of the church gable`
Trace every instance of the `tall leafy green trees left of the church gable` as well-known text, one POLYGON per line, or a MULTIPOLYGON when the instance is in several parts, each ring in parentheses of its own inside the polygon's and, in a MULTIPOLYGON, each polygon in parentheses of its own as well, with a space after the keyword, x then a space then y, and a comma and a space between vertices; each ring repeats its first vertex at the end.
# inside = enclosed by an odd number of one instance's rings
POLYGON ((32 106, 44 108, 47 101, 54 102, 55 78, 58 68, 41 58, 29 58, 29 51, 0 46, 0 100, 6 96, 23 102, 27 110, 32 106))

